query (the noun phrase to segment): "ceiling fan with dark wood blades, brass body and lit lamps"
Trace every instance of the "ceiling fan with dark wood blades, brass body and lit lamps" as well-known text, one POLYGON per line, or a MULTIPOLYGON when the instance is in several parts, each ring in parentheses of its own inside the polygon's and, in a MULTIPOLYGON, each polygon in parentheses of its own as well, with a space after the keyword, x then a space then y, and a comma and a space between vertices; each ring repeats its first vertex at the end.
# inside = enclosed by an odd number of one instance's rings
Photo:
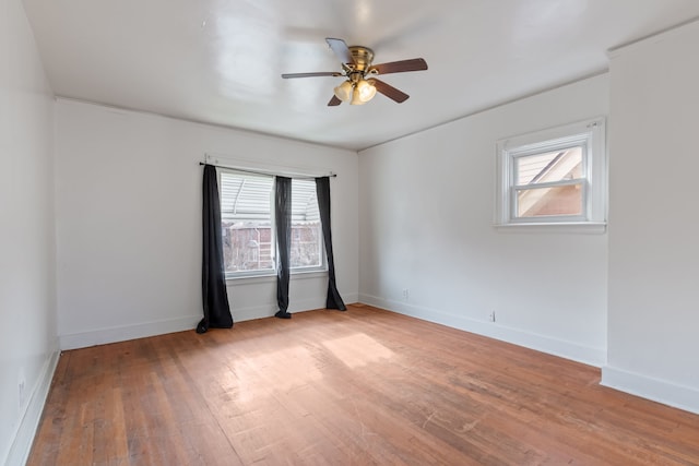
POLYGON ((321 71, 313 73, 286 73, 282 74, 282 77, 346 77, 346 81, 334 88, 334 95, 328 103, 329 107, 334 107, 343 101, 350 101, 351 105, 364 105, 371 100, 377 92, 380 92, 384 96, 402 104, 410 97, 407 94, 396 89, 383 81, 377 80, 374 76, 379 74, 427 70, 427 62, 422 58, 371 64, 371 60, 374 60, 374 50, 370 48, 363 46, 348 47, 344 40, 332 37, 325 38, 325 41, 340 59, 340 62, 342 63, 341 72, 321 71))

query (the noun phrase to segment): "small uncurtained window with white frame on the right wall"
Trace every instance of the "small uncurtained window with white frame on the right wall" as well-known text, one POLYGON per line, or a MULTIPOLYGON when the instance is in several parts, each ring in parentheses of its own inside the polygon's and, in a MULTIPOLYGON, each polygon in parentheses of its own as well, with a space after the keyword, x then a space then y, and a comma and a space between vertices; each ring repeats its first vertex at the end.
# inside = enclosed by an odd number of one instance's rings
POLYGON ((606 222, 604 119, 499 141, 496 225, 606 222))

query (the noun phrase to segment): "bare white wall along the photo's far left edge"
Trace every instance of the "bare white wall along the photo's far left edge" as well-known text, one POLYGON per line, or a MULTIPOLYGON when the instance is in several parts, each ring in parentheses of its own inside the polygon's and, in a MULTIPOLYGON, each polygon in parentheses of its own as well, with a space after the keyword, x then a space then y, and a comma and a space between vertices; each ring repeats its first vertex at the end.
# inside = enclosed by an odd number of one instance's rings
POLYGON ((52 105, 22 2, 2 0, 0 464, 24 461, 58 356, 52 105))

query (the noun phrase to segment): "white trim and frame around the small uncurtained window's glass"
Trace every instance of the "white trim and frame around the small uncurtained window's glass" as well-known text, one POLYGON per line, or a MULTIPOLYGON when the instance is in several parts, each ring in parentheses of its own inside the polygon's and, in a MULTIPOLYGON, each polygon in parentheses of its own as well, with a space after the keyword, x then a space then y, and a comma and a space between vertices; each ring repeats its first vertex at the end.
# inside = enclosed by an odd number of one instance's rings
POLYGON ((604 117, 552 128, 497 142, 495 227, 528 232, 604 232, 607 215, 607 156, 604 117), (517 218, 513 213, 514 158, 582 145, 583 213, 580 216, 517 218))

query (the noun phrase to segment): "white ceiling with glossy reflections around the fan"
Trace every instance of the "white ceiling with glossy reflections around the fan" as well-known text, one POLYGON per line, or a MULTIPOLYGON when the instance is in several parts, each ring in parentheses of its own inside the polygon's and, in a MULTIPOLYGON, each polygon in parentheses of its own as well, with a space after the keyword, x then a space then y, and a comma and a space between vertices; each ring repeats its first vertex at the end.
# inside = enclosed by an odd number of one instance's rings
POLYGON ((699 16, 697 0, 24 0, 57 95, 362 150, 607 68, 606 50, 699 16), (328 107, 324 41, 411 95, 328 107))

